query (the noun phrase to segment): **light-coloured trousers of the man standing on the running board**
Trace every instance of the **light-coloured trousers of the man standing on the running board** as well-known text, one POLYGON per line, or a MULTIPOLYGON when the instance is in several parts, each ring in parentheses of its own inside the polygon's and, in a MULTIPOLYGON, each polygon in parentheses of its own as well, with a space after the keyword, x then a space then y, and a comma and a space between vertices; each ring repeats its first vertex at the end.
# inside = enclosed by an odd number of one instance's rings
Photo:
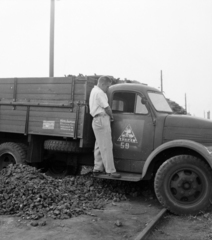
POLYGON ((116 172, 113 159, 110 117, 98 116, 93 119, 92 127, 96 137, 94 148, 94 170, 106 173, 116 172))

